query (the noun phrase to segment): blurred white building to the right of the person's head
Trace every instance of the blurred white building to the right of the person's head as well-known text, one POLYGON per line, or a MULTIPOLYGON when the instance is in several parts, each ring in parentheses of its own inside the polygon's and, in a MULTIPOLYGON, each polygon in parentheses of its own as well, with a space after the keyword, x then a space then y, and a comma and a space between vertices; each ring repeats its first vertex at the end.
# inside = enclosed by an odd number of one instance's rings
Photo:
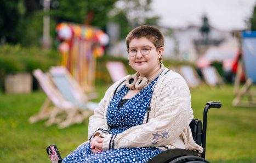
MULTIPOLYGON (((179 61, 185 59, 190 62, 195 62, 213 47, 220 47, 221 49, 231 51, 238 49, 237 39, 231 31, 219 31, 213 27, 210 27, 210 29, 207 39, 203 38, 200 32, 200 26, 174 29, 175 38, 169 38, 170 41, 166 41, 167 43, 165 44, 165 46, 169 46, 168 49, 173 50, 173 52, 168 52, 171 54, 168 57, 179 61), (178 44, 175 43, 177 41, 178 44), (178 46, 178 48, 175 46, 178 46), (175 51, 175 49, 178 50, 175 51)), ((230 55, 228 57, 230 57, 230 55)))

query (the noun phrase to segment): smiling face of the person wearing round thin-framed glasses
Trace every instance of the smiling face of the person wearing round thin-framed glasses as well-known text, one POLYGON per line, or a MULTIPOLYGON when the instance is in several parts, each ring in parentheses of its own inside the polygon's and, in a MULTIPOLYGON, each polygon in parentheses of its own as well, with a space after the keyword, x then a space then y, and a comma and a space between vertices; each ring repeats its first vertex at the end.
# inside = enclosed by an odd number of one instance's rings
POLYGON ((151 48, 149 55, 144 56, 139 50, 140 47, 143 46, 155 47, 155 45, 146 38, 135 38, 130 41, 129 47, 136 47, 138 52, 137 55, 133 57, 128 55, 128 59, 130 66, 145 76, 149 75, 153 70, 159 69, 158 58, 160 58, 163 53, 163 47, 160 47, 158 51, 156 48, 151 48))

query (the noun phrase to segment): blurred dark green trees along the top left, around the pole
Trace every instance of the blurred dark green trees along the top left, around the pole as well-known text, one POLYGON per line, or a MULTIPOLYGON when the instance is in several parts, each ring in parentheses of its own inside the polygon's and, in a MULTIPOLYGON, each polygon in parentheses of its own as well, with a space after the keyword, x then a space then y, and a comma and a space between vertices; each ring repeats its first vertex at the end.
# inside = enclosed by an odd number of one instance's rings
MULTIPOLYGON (((50 36, 55 38, 59 22, 75 22, 101 27, 120 24, 120 39, 140 25, 157 26, 159 17, 150 13, 151 0, 52 0, 50 36)), ((39 46, 43 35, 43 0, 1 0, 0 39, 7 43, 39 46)))

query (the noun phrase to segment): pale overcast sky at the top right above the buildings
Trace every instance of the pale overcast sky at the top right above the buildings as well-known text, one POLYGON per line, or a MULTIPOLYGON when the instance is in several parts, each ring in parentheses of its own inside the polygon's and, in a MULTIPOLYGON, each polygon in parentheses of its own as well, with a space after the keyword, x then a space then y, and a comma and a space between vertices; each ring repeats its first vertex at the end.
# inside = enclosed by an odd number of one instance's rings
POLYGON ((152 14, 161 17, 164 27, 202 25, 203 15, 221 31, 246 29, 256 0, 152 0, 152 14))

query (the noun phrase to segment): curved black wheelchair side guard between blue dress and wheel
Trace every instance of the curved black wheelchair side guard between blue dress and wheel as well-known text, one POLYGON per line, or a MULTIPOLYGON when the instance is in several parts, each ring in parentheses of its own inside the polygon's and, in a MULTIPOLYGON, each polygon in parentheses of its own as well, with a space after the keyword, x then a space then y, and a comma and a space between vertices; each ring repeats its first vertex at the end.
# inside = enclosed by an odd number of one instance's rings
POLYGON ((191 150, 187 150, 187 149, 179 149, 179 148, 169 149, 161 152, 160 154, 157 154, 152 159, 147 161, 147 163, 156 163, 156 162, 167 163, 181 156, 186 156, 186 155, 198 156, 198 153, 192 152, 191 150))

